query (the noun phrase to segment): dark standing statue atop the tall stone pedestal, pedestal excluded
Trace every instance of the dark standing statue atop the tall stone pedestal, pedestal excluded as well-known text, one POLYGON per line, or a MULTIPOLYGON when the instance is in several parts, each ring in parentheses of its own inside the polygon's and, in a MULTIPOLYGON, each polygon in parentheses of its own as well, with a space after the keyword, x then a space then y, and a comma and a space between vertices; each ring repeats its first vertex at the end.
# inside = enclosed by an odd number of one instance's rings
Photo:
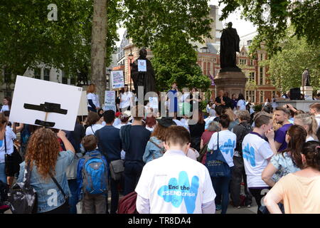
POLYGON ((237 66, 236 51, 239 49, 240 38, 237 30, 233 28, 232 22, 228 23, 228 28, 223 29, 220 38, 220 72, 241 71, 237 66))

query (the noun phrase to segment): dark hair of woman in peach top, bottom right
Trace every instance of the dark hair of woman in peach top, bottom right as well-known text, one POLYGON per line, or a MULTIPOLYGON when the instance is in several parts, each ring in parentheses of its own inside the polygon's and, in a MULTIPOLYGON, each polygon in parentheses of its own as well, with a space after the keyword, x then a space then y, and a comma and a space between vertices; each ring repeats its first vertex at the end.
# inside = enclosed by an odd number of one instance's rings
POLYGON ((305 164, 300 162, 298 164, 299 168, 305 169, 306 167, 311 167, 314 170, 320 171, 320 142, 304 142, 302 154, 306 157, 306 162, 305 164))

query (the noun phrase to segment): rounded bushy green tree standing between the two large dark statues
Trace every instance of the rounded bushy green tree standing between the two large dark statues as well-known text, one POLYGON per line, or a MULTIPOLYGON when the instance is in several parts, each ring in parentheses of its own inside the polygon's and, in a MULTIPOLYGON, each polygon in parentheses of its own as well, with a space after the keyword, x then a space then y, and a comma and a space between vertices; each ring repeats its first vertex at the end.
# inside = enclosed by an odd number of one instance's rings
POLYGON ((176 81, 179 88, 196 86, 206 90, 210 86, 208 76, 203 76, 201 68, 196 63, 197 55, 191 43, 183 33, 173 33, 171 42, 154 43, 152 51, 154 58, 151 63, 156 72, 156 86, 158 90, 168 90, 176 81))

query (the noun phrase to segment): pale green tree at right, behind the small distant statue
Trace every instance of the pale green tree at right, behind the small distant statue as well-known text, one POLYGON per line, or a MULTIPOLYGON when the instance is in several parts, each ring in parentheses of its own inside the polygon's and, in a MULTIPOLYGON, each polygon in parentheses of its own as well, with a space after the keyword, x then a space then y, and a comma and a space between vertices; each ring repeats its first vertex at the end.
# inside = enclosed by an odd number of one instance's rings
POLYGON ((282 91, 299 88, 302 84, 302 73, 309 68, 311 86, 320 89, 320 47, 310 46, 306 38, 287 35, 281 43, 282 51, 274 54, 270 60, 262 62, 269 66, 268 73, 272 83, 282 91))

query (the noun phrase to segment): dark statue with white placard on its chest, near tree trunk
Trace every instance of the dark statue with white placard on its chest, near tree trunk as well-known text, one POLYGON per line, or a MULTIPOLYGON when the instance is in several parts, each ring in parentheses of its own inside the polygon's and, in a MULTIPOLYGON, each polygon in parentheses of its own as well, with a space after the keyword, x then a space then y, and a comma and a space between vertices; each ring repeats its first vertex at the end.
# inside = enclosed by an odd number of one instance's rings
POLYGON ((139 58, 132 63, 132 81, 136 94, 138 94, 138 86, 144 86, 144 95, 149 91, 156 92, 154 68, 152 68, 149 59, 146 58, 145 48, 139 51, 139 58), (146 71, 138 71, 138 60, 146 61, 146 71))

